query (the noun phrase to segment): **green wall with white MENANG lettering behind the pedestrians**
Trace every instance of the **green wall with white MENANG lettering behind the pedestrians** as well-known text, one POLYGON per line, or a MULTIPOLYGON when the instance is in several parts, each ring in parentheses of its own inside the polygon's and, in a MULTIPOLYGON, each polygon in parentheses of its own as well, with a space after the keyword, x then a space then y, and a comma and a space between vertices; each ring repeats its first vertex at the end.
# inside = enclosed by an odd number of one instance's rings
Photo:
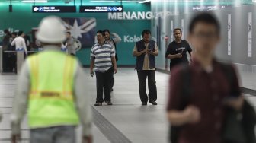
MULTIPOLYGON (((12 5, 13 11, 9 12, 8 4, 0 2, 0 40, 4 36, 5 29, 11 32, 23 30, 30 34, 37 29, 43 17, 51 15, 50 13, 32 13, 33 4, 13 3, 12 5)), ((109 5, 119 4, 110 3, 109 5)), ((117 44, 118 65, 134 65, 136 60, 132 56, 134 44, 141 39, 142 30, 150 29, 151 26, 151 14, 148 13, 150 5, 123 3, 122 13, 79 13, 79 6, 76 5, 76 13, 52 14, 62 17, 72 36, 81 41, 82 49, 77 52, 77 56, 82 64, 90 63, 91 46, 94 44, 96 31, 109 29, 111 33, 117 33, 122 38, 122 41, 117 44)))

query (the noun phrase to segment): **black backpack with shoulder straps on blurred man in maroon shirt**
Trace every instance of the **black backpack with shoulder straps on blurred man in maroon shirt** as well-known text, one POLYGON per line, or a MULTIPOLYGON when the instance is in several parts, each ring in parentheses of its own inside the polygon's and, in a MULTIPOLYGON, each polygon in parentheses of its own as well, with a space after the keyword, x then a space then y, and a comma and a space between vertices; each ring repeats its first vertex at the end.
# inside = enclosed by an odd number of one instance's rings
MULTIPOLYGON (((229 84, 232 87, 232 78, 235 76, 235 72, 232 68, 232 65, 219 63, 222 68, 223 73, 226 75, 229 84)), ((181 70, 182 72, 182 90, 181 92, 181 106, 180 110, 184 110, 184 108, 188 105, 190 100, 190 93, 192 92, 190 86, 190 68, 188 65, 183 65, 181 70)), ((237 94, 235 91, 231 91, 231 94, 237 94)), ((223 141, 229 142, 237 142, 237 143, 255 143, 255 133, 254 126, 256 125, 256 113, 254 111, 253 106, 248 103, 247 100, 244 100, 244 104, 242 106, 242 119, 238 120, 234 118, 238 115, 238 112, 231 108, 226 109, 226 117, 224 120, 224 126, 222 129, 222 139, 223 141)), ((171 126, 169 140, 171 143, 177 143, 179 134, 181 132, 182 126, 171 126)))

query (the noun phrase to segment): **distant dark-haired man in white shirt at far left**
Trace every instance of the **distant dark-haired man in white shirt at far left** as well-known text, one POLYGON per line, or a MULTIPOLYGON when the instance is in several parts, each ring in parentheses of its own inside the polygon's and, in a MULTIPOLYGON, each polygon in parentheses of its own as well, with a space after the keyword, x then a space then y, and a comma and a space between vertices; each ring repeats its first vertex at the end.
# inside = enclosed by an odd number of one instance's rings
POLYGON ((27 55, 27 46, 26 46, 26 43, 25 43, 25 40, 24 40, 24 32, 23 31, 19 31, 18 32, 18 37, 16 37, 12 42, 11 42, 11 46, 14 46, 16 47, 16 50, 17 49, 24 49, 24 52, 26 53, 27 55))

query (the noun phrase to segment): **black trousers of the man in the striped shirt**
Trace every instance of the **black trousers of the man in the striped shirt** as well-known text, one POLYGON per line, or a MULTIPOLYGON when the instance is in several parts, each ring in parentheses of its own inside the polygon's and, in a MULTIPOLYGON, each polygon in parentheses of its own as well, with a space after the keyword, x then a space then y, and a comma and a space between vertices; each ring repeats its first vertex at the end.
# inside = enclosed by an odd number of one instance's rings
POLYGON ((110 68, 105 72, 96 73, 96 84, 97 84, 97 103, 103 103, 103 101, 111 101, 110 90, 113 78, 114 68, 110 68), (104 88, 104 100, 103 100, 103 88, 104 88))

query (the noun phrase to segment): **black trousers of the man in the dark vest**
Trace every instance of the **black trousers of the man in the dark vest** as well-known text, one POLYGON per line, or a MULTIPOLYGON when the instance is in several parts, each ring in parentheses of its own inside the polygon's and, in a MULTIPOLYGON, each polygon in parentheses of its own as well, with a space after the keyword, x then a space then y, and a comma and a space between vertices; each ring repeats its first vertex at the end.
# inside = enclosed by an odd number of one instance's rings
POLYGON ((137 71, 139 78, 139 97, 142 102, 155 101, 157 91, 155 85, 155 70, 137 71), (146 78, 148 78, 149 97, 146 94, 146 78))

